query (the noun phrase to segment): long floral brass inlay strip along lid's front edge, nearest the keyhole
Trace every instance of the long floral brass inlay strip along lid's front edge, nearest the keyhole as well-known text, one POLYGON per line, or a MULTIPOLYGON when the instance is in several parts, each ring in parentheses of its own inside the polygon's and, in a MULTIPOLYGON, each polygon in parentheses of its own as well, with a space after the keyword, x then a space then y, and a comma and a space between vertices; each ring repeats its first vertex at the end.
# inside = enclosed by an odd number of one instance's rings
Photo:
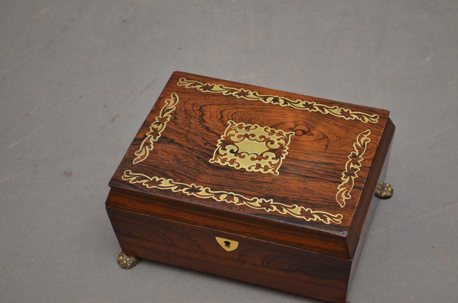
POLYGON ((170 189, 173 192, 182 192, 186 195, 192 195, 203 199, 211 198, 218 202, 234 203, 235 205, 245 205, 254 209, 264 210, 266 212, 276 211, 282 215, 290 215, 296 218, 304 219, 305 221, 321 221, 325 224, 342 223, 343 216, 341 214, 333 215, 325 211, 312 211, 310 208, 298 206, 296 204, 287 205, 283 203, 273 202, 273 199, 246 198, 243 195, 234 194, 226 191, 215 191, 208 187, 203 187, 196 184, 178 183, 172 179, 159 177, 148 177, 142 173, 132 173, 131 170, 126 170, 122 179, 129 181, 131 184, 142 184, 147 188, 170 189))

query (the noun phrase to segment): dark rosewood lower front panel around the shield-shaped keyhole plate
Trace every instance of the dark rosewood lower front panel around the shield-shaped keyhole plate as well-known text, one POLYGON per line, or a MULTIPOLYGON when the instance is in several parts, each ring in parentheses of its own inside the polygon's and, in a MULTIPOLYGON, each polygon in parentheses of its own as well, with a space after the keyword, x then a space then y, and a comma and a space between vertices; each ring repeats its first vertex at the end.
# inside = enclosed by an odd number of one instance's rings
POLYGON ((331 302, 345 301, 349 260, 110 207, 107 212, 121 249, 128 254, 331 302), (226 251, 215 237, 237 241, 238 247, 226 251))

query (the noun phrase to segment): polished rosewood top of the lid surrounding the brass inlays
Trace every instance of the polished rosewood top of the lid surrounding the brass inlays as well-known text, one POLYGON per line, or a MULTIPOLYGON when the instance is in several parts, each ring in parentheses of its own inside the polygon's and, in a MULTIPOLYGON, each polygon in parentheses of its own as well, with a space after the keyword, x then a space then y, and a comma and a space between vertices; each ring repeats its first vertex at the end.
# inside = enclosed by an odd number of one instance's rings
MULTIPOLYGON (((111 187, 130 189, 156 197, 181 200, 188 203, 208 206, 213 209, 228 210, 256 216, 273 222, 310 228, 316 232, 334 233, 336 237, 346 236, 353 222, 353 216, 360 202, 376 152, 386 153, 379 145, 387 125, 388 112, 347 103, 308 97, 241 83, 202 77, 182 72, 174 72, 152 111, 142 124, 132 145, 110 182, 111 187), (213 92, 201 92, 195 88, 178 86, 180 78, 202 83, 221 84, 225 87, 241 87, 264 95, 301 99, 327 106, 339 106, 354 112, 377 114, 377 123, 363 123, 347 120, 332 114, 309 112, 289 106, 245 100, 213 92), (164 100, 176 93, 180 101, 170 117, 170 121, 154 142, 150 155, 142 162, 133 164, 135 152, 139 149, 151 123, 159 116, 164 100), (271 173, 248 172, 229 166, 210 163, 218 139, 224 134, 228 121, 259 124, 279 130, 291 131, 288 155, 284 158, 278 176, 271 173), (367 145, 362 167, 351 190, 351 199, 345 207, 336 201, 337 187, 342 182, 342 172, 348 156, 353 151, 357 136, 365 130, 371 131, 371 142, 367 145), (340 224, 325 224, 305 221, 276 211, 258 210, 234 203, 202 199, 172 190, 147 188, 142 184, 130 184, 122 179, 126 170, 150 177, 173 179, 182 184, 196 184, 216 191, 233 192, 245 197, 303 206, 313 211, 325 211, 342 215, 340 224)), ((376 171, 373 169, 376 174, 376 171)), ((369 189, 371 190, 371 189, 369 189)))

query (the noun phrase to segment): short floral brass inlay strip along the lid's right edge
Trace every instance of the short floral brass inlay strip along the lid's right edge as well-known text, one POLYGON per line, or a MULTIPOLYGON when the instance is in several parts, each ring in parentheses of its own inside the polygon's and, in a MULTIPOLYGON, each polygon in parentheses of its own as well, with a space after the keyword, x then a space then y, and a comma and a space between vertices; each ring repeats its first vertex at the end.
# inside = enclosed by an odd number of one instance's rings
POLYGON ((345 164, 345 170, 341 178, 343 182, 337 187, 336 201, 340 207, 344 207, 345 201, 351 198, 350 191, 353 189, 354 179, 358 178, 361 162, 364 160, 363 155, 367 144, 371 142, 369 135, 371 135, 371 130, 365 130, 360 133, 356 137, 356 142, 353 144, 354 151, 351 151, 348 156, 348 161, 345 164))

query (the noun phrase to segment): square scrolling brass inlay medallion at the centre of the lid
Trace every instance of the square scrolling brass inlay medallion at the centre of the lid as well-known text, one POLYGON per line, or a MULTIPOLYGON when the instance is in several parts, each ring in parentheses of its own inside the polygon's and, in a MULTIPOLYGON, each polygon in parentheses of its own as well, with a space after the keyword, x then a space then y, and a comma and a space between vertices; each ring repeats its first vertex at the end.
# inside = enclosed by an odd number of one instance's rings
POLYGON ((228 124, 209 162, 277 176, 294 132, 243 122, 228 121, 228 124))

